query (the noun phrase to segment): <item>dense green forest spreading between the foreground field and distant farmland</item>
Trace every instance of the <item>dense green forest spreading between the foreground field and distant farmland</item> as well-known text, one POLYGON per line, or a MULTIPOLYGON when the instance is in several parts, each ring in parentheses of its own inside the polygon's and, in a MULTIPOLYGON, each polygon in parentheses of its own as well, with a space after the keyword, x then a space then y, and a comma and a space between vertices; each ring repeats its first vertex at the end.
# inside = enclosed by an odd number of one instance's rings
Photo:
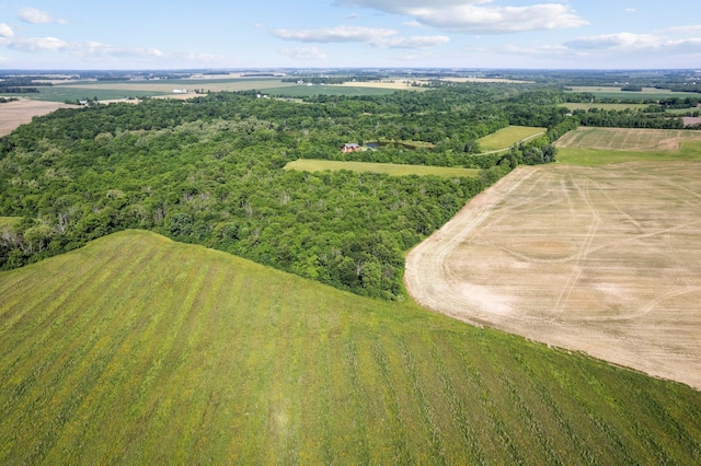
MULTIPOLYGON (((0 214, 23 220, 0 240, 0 268, 138 228, 358 294, 400 299, 410 247, 519 163, 554 161, 552 142, 562 133, 579 124, 606 126, 611 115, 568 115, 556 106, 563 91, 538 85, 466 84, 304 102, 256 94, 60 109, 2 138, 0 214), (476 139, 508 125, 548 132, 506 154, 479 154, 476 139), (479 167, 482 175, 283 170, 299 158, 341 159, 344 143, 371 140, 432 148, 389 144, 348 159, 479 167)), ((618 124, 637 125, 640 115, 629 116, 621 113, 618 124)))

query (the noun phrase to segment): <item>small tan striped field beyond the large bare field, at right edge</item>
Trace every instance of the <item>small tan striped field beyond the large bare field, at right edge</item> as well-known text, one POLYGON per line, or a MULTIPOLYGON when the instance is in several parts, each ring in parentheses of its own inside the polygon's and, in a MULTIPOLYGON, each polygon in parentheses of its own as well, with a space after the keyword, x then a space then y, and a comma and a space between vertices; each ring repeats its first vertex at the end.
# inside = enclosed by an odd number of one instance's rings
POLYGON ((560 138, 555 145, 617 151, 675 151, 683 140, 701 141, 701 132, 680 129, 579 127, 560 138))

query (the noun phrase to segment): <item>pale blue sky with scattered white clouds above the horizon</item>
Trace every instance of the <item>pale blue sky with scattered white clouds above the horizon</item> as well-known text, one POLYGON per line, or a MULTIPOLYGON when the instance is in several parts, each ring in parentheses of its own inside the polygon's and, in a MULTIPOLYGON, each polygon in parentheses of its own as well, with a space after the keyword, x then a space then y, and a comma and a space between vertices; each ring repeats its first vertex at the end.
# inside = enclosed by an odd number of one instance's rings
POLYGON ((698 0, 0 0, 0 69, 701 68, 699 11, 698 0))

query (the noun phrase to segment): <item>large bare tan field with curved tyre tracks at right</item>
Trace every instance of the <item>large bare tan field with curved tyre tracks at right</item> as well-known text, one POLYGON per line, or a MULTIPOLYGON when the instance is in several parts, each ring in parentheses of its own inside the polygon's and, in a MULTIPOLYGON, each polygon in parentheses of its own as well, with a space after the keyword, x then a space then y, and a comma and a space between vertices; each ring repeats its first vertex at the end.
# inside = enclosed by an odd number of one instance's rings
POLYGON ((421 304, 701 388, 701 164, 519 167, 406 258, 421 304))

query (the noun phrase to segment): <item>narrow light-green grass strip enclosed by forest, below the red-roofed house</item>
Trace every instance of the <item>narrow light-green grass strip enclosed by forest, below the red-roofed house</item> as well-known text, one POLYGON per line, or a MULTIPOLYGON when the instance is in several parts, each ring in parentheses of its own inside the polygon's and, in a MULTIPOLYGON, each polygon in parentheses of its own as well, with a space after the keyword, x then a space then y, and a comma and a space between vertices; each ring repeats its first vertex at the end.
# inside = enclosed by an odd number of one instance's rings
POLYGON ((298 170, 304 172, 322 172, 331 170, 349 170, 352 172, 383 173, 391 176, 406 175, 434 175, 447 178, 455 177, 476 177, 480 176, 478 168, 457 168, 449 166, 427 166, 427 165, 403 165, 394 163, 372 163, 372 162, 337 162, 331 160, 298 159, 285 165, 285 170, 298 170))

